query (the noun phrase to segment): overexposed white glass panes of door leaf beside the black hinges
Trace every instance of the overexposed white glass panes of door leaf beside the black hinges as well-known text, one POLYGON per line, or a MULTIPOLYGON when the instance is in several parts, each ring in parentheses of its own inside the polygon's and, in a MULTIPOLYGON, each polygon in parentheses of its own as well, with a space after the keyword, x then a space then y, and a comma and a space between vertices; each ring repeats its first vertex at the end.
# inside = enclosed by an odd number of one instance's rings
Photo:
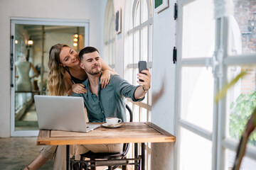
POLYGON ((177 168, 212 169, 216 81, 213 0, 178 1, 177 168))

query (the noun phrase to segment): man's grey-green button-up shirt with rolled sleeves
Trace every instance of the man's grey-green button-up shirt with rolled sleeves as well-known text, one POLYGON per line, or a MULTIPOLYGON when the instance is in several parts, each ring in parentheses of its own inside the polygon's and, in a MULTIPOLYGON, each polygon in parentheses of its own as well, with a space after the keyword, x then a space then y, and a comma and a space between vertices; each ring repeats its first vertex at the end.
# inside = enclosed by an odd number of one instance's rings
POLYGON ((105 122, 107 117, 121 118, 126 121, 125 114, 125 98, 132 98, 132 101, 142 101, 144 98, 135 99, 134 92, 139 86, 133 86, 128 81, 122 79, 118 75, 111 75, 110 83, 105 89, 100 88, 100 80, 97 96, 90 91, 89 79, 82 82, 87 89, 85 94, 75 94, 72 96, 80 96, 84 99, 87 109, 87 116, 90 122, 105 122))

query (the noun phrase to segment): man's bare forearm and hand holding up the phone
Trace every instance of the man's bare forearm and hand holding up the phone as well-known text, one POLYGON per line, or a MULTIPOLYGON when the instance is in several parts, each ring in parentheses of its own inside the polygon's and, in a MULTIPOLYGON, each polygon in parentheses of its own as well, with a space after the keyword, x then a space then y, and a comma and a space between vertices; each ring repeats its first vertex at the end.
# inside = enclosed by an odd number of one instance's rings
POLYGON ((137 78, 138 79, 142 79, 144 82, 142 81, 137 81, 139 84, 141 84, 142 86, 139 86, 136 91, 134 92, 134 98, 135 99, 139 99, 139 98, 143 98, 146 94, 146 91, 148 91, 150 89, 150 82, 151 82, 151 74, 149 73, 149 70, 142 70, 142 73, 137 74, 137 78), (145 74, 142 74, 145 73, 145 74))

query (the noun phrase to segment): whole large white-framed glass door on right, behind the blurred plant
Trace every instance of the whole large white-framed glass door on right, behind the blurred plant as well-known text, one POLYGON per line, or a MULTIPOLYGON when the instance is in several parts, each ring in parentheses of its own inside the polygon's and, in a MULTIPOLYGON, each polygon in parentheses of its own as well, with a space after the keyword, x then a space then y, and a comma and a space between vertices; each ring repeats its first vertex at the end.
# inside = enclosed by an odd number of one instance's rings
MULTIPOLYGON (((178 10, 177 169, 228 170, 256 106, 256 5, 240 0, 184 0, 178 10), (232 4, 233 14, 227 10, 232 4), (218 91, 242 71, 248 74, 215 102, 218 91)), ((256 169, 255 141, 254 132, 241 169, 256 169)))

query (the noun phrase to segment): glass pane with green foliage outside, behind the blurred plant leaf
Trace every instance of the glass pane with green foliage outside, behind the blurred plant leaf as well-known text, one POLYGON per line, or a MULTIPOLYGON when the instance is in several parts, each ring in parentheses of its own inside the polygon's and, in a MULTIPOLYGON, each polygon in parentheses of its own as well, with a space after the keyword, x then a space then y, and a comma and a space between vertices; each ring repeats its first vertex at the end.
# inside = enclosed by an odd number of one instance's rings
MULTIPOLYGON (((255 67, 228 67, 228 78, 233 79, 241 71, 246 71, 247 75, 228 91, 227 96, 228 134, 234 140, 240 140, 247 120, 256 107, 255 67)), ((256 132, 250 135, 248 145, 256 146, 256 132)))

